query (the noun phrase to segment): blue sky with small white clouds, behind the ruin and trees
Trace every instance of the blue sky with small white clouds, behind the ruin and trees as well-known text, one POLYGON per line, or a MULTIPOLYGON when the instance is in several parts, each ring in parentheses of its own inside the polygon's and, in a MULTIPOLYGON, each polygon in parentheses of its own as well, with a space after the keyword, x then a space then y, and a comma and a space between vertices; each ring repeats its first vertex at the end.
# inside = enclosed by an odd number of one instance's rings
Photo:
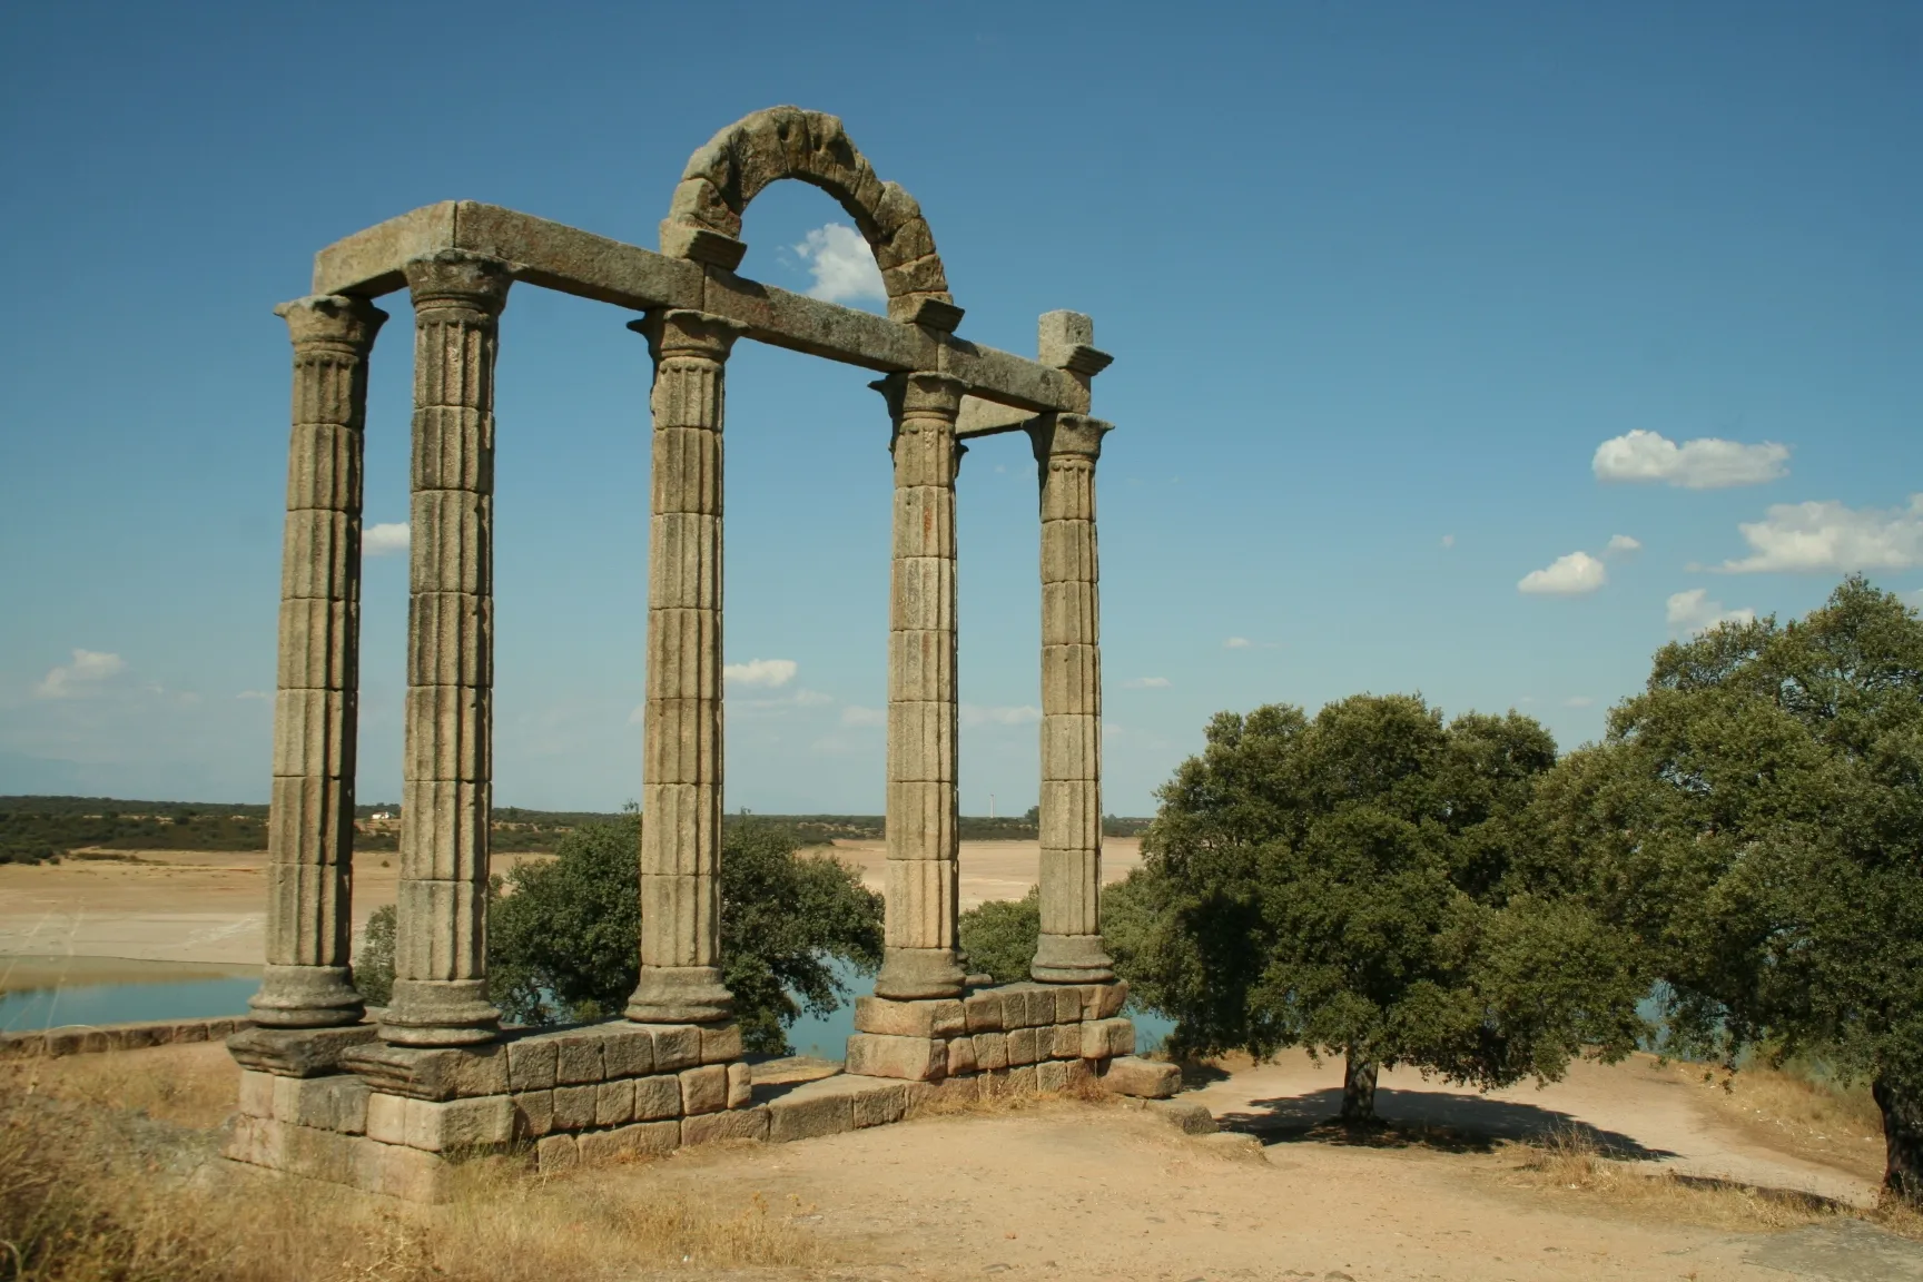
MULTIPOLYGON (((1217 709, 1421 690, 1573 748, 1719 613, 1802 613, 1856 567, 1923 600, 1915 4, 10 6, 0 94, 0 792, 265 800, 271 308, 317 248, 450 198, 654 246, 687 156, 783 102, 919 198, 963 336, 1033 354, 1073 308, 1115 354, 1115 813, 1217 709)), ((879 309, 833 223, 769 188, 742 271, 879 309)), ((369 525, 406 521, 385 306, 369 525)), ((627 319, 517 286, 502 323, 502 805, 638 792, 627 319)), ((869 377, 731 361, 733 807, 881 809, 869 377)), ((960 523, 962 801, 1010 813, 1025 440, 971 450, 960 523)), ((404 619, 406 557, 369 559, 363 800, 400 790, 404 619)))

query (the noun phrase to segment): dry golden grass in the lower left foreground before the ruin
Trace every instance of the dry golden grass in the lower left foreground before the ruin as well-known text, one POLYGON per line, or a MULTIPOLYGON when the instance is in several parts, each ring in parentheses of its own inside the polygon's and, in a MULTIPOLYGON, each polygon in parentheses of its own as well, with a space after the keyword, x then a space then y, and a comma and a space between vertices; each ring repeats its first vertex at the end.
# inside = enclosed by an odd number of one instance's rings
MULTIPOLYGON (((187 1051, 192 1048, 167 1048, 187 1051)), ((277 1178, 213 1157, 200 1126, 125 1109, 204 1117, 198 1101, 140 1088, 160 1051, 54 1061, 25 1094, 0 1084, 0 1278, 21 1282, 552 1282, 646 1267, 825 1263, 798 1207, 727 1201, 663 1184, 656 1167, 538 1178, 475 1165, 458 1196, 406 1207, 277 1178), (90 1063, 88 1063, 90 1061, 90 1063), (119 1065, 112 1061, 123 1061, 119 1065), (129 1065, 125 1061, 138 1061, 129 1065)), ((212 1071, 208 1072, 212 1076, 212 1071)), ((233 1096, 227 1063, 227 1096, 233 1096)), ((663 1159, 667 1163, 675 1159, 663 1159)))

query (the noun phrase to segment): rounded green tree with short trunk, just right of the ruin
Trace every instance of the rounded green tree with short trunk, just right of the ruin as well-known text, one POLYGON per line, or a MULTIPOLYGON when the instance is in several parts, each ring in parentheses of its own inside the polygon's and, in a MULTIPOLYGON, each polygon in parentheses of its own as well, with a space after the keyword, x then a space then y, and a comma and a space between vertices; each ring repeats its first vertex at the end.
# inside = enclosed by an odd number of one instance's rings
POLYGON ((1108 896, 1119 969, 1190 1053, 1344 1055, 1350 1119, 1381 1065, 1488 1088, 1621 1057, 1629 940, 1531 853, 1554 761, 1529 717, 1444 725, 1415 696, 1221 713, 1108 896))

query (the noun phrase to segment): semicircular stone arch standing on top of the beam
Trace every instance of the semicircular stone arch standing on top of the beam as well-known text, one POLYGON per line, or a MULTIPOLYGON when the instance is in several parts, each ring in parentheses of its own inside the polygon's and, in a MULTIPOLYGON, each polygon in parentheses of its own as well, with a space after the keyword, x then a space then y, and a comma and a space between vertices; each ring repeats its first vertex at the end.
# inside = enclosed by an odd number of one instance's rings
POLYGON ((802 108, 744 115, 688 158, 662 221, 662 254, 733 271, 746 246, 740 215, 763 186, 800 179, 833 196, 862 229, 888 290, 888 315, 952 331, 962 311, 915 198, 875 177, 840 119, 802 108))

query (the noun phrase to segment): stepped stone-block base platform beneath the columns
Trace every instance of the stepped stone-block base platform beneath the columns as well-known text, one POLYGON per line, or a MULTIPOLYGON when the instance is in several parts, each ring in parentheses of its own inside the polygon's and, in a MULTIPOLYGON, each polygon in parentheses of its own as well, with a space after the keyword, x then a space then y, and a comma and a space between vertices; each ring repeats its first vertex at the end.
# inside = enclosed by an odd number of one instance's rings
MULTIPOLYGON (((863 998, 848 1071, 756 1084, 735 1026, 610 1021, 510 1030, 498 1042, 363 1042, 344 1071, 244 1069, 225 1155, 406 1201, 442 1201, 460 1163, 535 1171, 663 1155, 715 1140, 783 1144, 898 1122, 917 1107, 1058 1094, 1096 1080, 1175 1094, 1173 1065, 1133 1057, 1123 984, 1011 984, 963 999, 863 998)), ((308 1065, 313 1057, 242 1063, 308 1065)))

